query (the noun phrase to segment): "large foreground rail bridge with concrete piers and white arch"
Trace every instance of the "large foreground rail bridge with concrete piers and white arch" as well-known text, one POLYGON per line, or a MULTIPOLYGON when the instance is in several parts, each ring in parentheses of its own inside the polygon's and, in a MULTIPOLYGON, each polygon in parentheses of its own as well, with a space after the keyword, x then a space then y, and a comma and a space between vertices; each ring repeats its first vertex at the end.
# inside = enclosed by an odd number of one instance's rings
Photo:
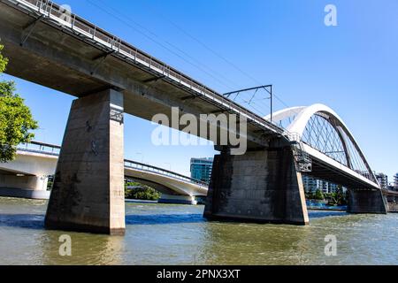
POLYGON ((171 119, 172 107, 198 120, 203 113, 222 112, 247 120, 247 133, 227 129, 247 140, 248 150, 240 156, 231 154, 231 145, 221 146, 218 135, 202 136, 220 151, 206 218, 308 224, 302 174, 348 187, 349 212, 387 212, 354 135, 324 105, 263 118, 86 19, 73 14, 66 20, 50 1, 0 0, 0 19, 10 59, 6 73, 77 97, 57 162, 47 227, 124 233, 123 115, 150 120, 165 113, 171 119))

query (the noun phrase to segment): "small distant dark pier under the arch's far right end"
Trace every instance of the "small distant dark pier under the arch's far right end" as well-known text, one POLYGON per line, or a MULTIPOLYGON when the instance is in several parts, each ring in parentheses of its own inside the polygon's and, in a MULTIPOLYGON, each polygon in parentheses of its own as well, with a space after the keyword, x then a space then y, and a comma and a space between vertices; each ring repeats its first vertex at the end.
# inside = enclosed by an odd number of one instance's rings
POLYGON ((348 190, 349 213, 387 214, 387 199, 381 190, 348 190))

